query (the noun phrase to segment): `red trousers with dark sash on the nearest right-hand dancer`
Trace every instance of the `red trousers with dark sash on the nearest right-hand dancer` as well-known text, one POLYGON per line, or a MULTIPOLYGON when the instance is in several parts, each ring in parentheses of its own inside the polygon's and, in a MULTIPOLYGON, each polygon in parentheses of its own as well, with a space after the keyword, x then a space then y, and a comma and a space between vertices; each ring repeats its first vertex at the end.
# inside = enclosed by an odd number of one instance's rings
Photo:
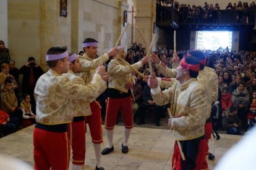
POLYGON ((181 142, 185 142, 186 144, 182 144, 182 151, 186 158, 185 161, 181 158, 181 152, 179 151, 179 147, 177 142, 174 144, 174 151, 173 151, 173 160, 172 160, 172 169, 179 170, 179 169, 194 169, 194 170, 201 170, 203 160, 205 159, 205 147, 206 147, 206 140, 203 137, 193 140, 184 140, 181 142))

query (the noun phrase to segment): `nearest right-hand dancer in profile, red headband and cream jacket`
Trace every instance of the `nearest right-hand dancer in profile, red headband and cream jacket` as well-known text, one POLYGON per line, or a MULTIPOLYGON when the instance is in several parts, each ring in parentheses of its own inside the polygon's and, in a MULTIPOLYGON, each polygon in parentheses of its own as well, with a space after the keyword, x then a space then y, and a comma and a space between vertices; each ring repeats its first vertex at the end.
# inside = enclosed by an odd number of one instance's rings
POLYGON ((205 156, 206 140, 204 135, 205 119, 202 115, 207 110, 205 88, 197 82, 199 61, 195 57, 184 57, 177 67, 177 81, 172 87, 161 91, 155 74, 148 80, 151 94, 158 105, 171 102, 173 118, 169 125, 174 130, 172 169, 201 169, 205 156), (181 149, 186 158, 181 160, 181 149))

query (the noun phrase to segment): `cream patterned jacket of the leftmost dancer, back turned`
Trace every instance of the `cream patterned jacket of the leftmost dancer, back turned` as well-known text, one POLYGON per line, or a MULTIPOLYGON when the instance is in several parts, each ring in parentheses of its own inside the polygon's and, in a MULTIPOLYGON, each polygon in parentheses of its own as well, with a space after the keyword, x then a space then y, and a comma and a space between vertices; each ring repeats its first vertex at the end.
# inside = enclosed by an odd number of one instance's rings
POLYGON ((34 93, 36 122, 64 124, 72 121, 72 100, 87 100, 88 87, 72 83, 66 76, 49 70, 38 79, 34 93))

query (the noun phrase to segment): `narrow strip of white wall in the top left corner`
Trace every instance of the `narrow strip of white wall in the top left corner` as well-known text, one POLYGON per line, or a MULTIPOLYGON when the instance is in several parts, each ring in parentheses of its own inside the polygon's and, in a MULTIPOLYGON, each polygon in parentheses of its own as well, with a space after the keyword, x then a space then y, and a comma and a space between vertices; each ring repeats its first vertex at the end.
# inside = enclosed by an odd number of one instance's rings
POLYGON ((8 47, 8 18, 7 0, 0 1, 0 40, 8 47))

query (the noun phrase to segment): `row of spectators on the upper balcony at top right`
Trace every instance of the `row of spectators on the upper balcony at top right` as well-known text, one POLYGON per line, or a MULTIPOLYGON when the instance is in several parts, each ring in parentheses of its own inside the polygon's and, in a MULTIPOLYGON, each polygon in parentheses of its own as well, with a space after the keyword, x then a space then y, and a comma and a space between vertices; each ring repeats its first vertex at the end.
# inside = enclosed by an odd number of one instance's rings
MULTIPOLYGON (((255 2, 248 4, 248 2, 239 1, 237 4, 228 3, 226 7, 219 6, 216 4, 208 4, 205 2, 203 6, 201 5, 192 5, 190 4, 179 4, 178 1, 173 0, 157 0, 156 1, 156 18, 158 20, 171 20, 171 15, 178 14, 179 22, 217 22, 218 14, 217 10, 227 9, 227 10, 236 10, 235 12, 229 11, 229 17, 231 17, 231 12, 236 15, 236 22, 239 23, 248 23, 255 22, 255 2), (171 10, 175 10, 173 11, 171 10), (238 10, 243 10, 239 12, 238 10)), ((233 15, 233 14, 232 14, 233 15)), ((224 17, 224 16, 223 16, 224 17)))

